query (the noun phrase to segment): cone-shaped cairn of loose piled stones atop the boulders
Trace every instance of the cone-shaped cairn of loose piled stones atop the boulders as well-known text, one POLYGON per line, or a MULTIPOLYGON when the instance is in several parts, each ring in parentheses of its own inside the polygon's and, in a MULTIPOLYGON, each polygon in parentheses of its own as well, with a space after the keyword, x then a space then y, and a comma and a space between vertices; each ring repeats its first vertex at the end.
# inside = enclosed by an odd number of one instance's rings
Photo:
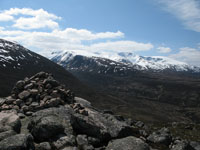
POLYGON ((74 94, 45 72, 16 83, 12 95, 0 101, 0 110, 15 110, 17 113, 32 115, 33 112, 73 103, 74 94))

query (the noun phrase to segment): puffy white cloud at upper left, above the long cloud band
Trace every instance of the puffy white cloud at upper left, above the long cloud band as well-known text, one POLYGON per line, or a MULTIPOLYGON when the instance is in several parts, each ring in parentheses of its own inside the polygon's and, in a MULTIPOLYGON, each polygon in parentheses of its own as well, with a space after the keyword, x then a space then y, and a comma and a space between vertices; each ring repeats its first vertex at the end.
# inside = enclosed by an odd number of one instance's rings
POLYGON ((14 21, 13 27, 19 29, 38 29, 45 27, 55 29, 59 27, 55 20, 59 19, 61 17, 48 13, 43 9, 11 8, 0 13, 0 21, 14 21), (26 17, 16 18, 18 15, 26 15, 26 17))

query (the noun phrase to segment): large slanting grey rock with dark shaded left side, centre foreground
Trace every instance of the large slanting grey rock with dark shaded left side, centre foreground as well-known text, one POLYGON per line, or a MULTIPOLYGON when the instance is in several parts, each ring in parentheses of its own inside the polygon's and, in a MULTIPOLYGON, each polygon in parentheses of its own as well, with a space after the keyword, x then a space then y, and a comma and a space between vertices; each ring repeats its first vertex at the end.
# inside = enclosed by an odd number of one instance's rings
MULTIPOLYGON (((86 109, 86 108, 85 108, 86 109)), ((75 114, 74 130, 104 140, 133 135, 132 127, 117 120, 113 115, 103 114, 94 109, 86 109, 88 116, 75 114)))

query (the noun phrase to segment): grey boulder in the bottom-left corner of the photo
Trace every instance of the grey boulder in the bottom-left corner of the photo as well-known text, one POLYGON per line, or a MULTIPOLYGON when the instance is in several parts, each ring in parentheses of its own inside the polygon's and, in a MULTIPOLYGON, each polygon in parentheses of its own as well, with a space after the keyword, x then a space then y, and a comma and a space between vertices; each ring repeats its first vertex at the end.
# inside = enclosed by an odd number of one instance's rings
POLYGON ((30 134, 17 134, 0 141, 0 150, 34 150, 30 134))

